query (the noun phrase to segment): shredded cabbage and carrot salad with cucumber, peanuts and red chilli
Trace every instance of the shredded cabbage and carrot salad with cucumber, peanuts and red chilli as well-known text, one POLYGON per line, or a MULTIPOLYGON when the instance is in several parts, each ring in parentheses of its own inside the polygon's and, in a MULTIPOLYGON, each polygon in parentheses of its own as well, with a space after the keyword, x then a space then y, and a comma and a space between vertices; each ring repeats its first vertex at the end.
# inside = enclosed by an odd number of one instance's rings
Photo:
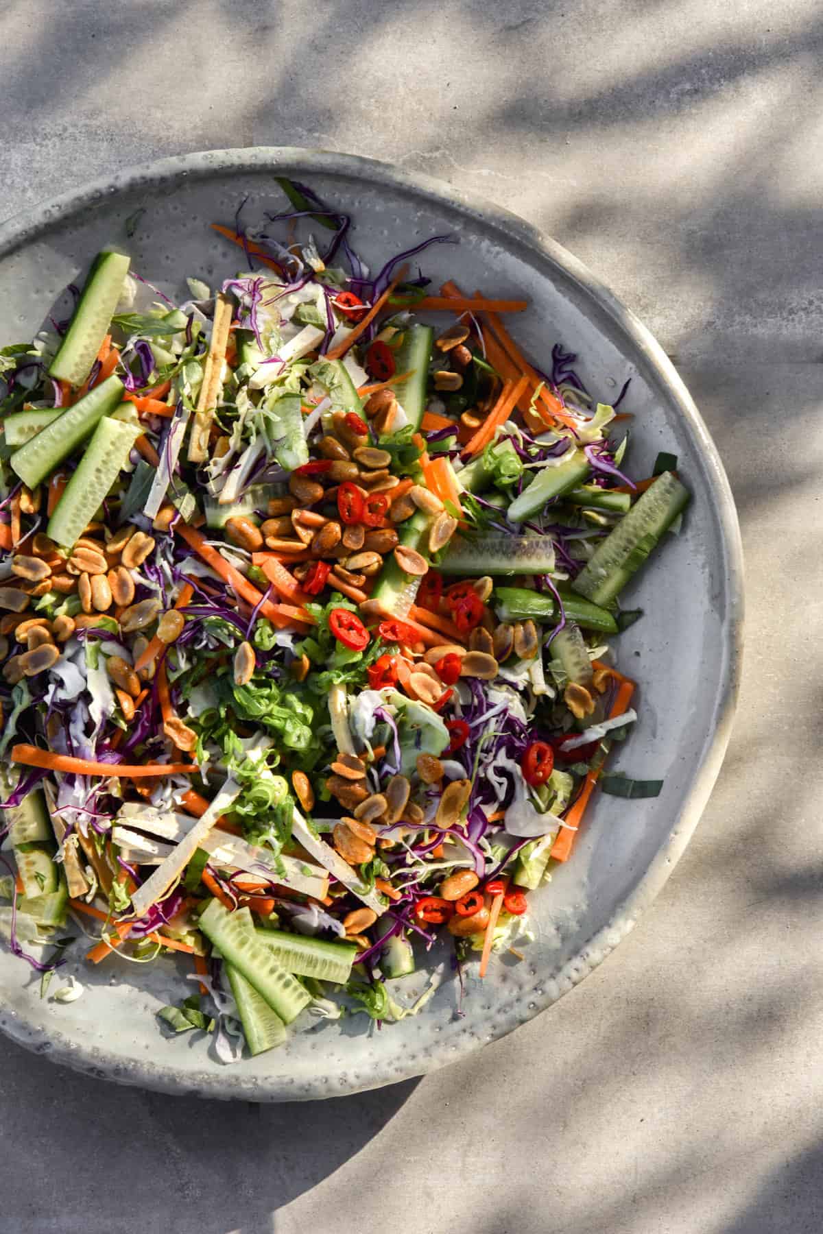
POLYGON ((605 770, 611 640, 689 501, 524 301, 431 286, 450 237, 373 273, 280 184, 216 227, 236 278, 173 304, 104 252, 0 350, 0 926, 58 1001, 69 956, 176 958, 159 1016, 225 1059, 522 958, 596 786, 660 790, 605 770))

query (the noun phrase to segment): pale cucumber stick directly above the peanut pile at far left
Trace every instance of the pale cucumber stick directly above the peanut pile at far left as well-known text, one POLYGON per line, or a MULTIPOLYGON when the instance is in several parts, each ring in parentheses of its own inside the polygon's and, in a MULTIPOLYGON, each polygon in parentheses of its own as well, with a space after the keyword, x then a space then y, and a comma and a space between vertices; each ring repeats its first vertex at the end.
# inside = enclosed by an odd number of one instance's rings
POLYGON ((107 497, 141 432, 139 426, 110 416, 100 421, 48 521, 47 534, 57 544, 70 548, 83 534, 107 497))

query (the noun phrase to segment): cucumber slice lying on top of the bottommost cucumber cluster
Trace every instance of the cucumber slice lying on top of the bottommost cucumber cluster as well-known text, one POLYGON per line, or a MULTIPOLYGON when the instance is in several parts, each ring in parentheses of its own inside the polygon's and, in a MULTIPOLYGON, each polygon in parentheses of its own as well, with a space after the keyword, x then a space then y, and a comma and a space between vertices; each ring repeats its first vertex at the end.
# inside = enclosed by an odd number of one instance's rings
POLYGON ((247 908, 232 913, 218 900, 212 900, 199 924, 221 955, 254 986, 285 1024, 290 1024, 311 1002, 304 986, 278 964, 258 939, 247 908))

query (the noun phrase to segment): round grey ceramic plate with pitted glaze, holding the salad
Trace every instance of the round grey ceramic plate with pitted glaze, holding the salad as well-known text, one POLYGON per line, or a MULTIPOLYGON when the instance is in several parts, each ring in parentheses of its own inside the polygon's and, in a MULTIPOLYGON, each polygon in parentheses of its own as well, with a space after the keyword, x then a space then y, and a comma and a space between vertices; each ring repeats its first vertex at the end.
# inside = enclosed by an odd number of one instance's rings
MULTIPOLYGON (((742 636, 742 558, 729 487, 686 389, 648 331, 589 271, 519 218, 424 176, 381 163, 300 149, 212 151, 126 172, 0 227, 0 339, 31 337, 58 291, 106 244, 172 295, 185 275, 228 276, 238 254, 209 230, 283 199, 274 175, 311 183, 352 213, 373 263, 438 232, 422 259, 437 281, 527 296, 518 341, 545 363, 561 341, 580 353, 589 387, 608 401, 632 376, 632 465, 647 474, 659 449, 680 458, 695 500, 682 533, 627 596, 647 617, 621 637, 621 664, 640 682, 638 723, 616 765, 665 780, 653 801, 602 797, 574 859, 534 896, 538 930, 521 964, 469 977, 455 1017, 447 980, 423 1014, 375 1033, 365 1017, 292 1032, 289 1044, 223 1066, 194 1034, 165 1039, 154 1012, 179 997, 185 967, 111 960, 84 997, 41 1001, 37 981, 0 954, 0 1027, 21 1045, 95 1076, 169 1092, 246 1101, 328 1097, 421 1075, 502 1037, 586 976, 632 928, 682 853, 717 776, 732 724, 742 636), (143 209, 133 238, 126 220, 143 209)), ((415 979, 416 981, 417 979, 415 979)), ((418 982, 417 988, 422 985, 418 982)), ((410 990, 416 988, 410 981, 410 990)))

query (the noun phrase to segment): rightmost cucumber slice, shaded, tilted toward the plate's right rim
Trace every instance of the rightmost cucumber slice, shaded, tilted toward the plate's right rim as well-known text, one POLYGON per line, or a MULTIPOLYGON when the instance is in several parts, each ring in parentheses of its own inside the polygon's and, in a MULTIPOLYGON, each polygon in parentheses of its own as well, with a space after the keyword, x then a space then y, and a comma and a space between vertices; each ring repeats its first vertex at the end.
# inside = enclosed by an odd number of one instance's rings
POLYGON ((595 549, 573 589, 597 605, 611 603, 686 508, 690 496, 676 475, 664 471, 595 549))

